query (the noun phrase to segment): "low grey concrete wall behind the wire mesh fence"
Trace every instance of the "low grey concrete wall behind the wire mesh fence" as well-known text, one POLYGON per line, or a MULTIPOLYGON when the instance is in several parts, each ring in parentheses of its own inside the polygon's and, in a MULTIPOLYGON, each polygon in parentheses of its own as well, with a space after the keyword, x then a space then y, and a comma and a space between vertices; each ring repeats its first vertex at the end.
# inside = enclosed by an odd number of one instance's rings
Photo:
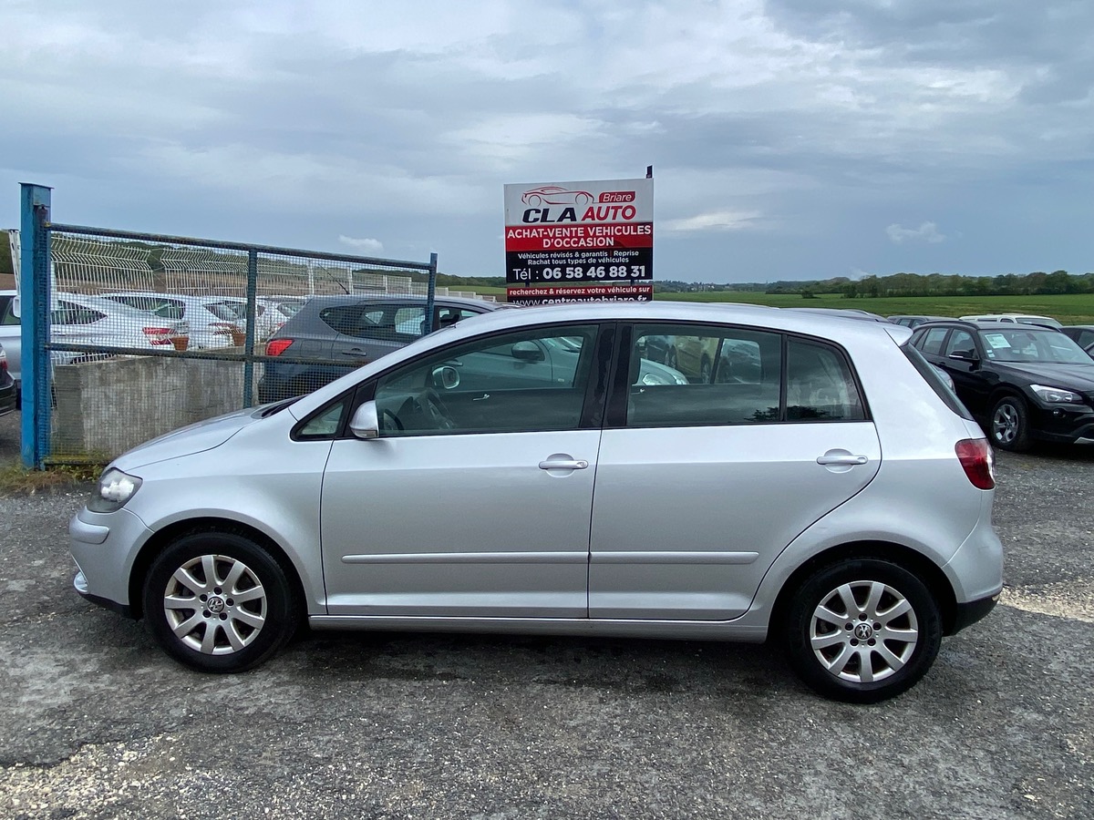
MULTIPOLYGON (((254 389, 257 396, 257 384, 254 389)), ((243 362, 121 356, 57 365, 54 391, 53 455, 109 459, 176 427, 238 410, 243 362)))

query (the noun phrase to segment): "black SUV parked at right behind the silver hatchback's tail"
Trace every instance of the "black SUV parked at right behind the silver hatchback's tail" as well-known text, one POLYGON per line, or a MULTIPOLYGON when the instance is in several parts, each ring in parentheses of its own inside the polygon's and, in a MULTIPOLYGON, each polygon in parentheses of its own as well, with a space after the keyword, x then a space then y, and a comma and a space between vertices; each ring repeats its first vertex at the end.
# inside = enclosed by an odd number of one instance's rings
POLYGON ((1094 360, 1059 330, 951 319, 920 325, 911 343, 953 377, 997 447, 1094 444, 1094 360))

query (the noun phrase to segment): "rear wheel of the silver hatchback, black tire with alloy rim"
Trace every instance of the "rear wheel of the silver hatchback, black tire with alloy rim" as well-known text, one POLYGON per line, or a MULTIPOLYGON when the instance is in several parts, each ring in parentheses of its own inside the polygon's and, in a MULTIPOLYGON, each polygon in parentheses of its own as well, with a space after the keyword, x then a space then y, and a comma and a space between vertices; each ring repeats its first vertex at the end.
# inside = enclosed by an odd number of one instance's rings
POLYGON ((876 703, 931 668, 942 619, 916 575, 882 559, 853 559, 801 585, 783 639, 791 667, 811 689, 833 700, 876 703))

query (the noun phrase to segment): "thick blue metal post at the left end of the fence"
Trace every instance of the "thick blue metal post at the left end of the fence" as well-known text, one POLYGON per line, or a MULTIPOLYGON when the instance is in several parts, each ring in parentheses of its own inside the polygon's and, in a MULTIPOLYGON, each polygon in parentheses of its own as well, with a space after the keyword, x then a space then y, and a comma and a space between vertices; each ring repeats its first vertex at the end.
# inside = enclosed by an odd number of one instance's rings
POLYGON ((43 185, 20 184, 19 298, 22 325, 22 455, 23 465, 39 470, 49 455, 51 423, 49 351, 49 222, 50 191, 43 185))

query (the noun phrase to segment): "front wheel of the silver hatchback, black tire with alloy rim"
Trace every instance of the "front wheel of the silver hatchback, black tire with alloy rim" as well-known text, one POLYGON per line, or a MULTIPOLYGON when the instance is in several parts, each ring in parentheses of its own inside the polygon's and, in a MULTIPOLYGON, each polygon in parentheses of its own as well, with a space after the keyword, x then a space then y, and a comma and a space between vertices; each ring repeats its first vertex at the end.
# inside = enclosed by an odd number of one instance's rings
POLYGON ((298 621, 286 570, 234 532, 179 538, 152 563, 142 597, 156 643, 205 672, 258 666, 284 645, 298 621), (184 576, 189 581, 179 579, 184 576))

